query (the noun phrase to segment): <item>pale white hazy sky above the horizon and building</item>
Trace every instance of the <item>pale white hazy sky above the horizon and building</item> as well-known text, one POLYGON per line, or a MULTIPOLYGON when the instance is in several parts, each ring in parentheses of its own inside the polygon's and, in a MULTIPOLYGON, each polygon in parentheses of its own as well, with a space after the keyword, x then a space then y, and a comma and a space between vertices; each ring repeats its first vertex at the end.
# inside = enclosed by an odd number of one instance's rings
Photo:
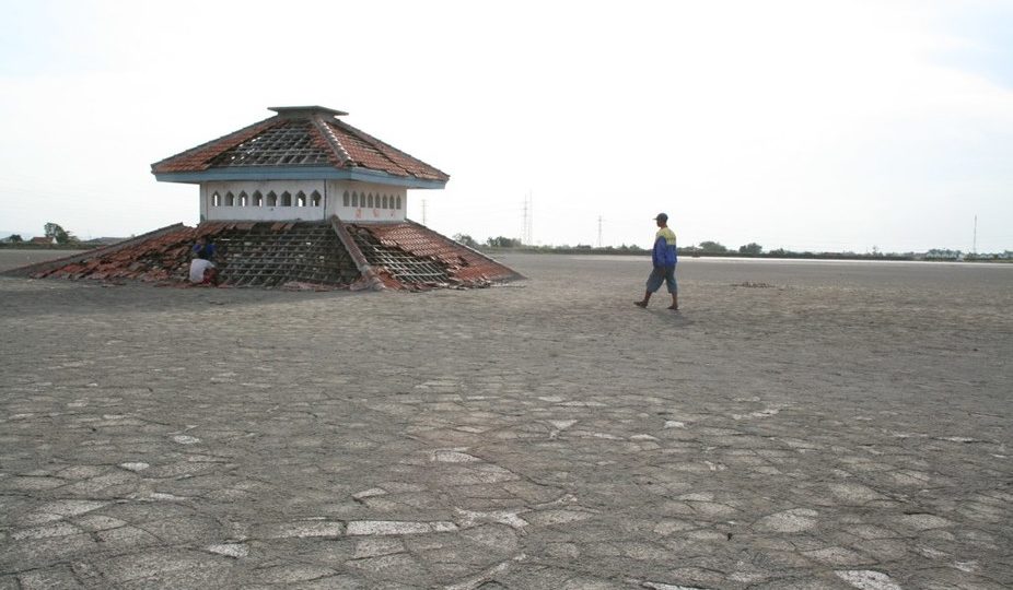
POLYGON ((195 224, 152 162, 316 104, 451 175, 445 234, 1013 249, 1010 1, 0 2, 7 232, 195 224))

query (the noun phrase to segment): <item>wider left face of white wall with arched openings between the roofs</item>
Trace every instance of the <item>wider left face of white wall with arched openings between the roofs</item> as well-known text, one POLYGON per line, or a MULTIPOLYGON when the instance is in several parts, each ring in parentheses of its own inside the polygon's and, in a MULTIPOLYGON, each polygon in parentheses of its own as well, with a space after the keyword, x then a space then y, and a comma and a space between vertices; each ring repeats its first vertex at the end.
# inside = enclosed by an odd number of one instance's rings
POLYGON ((324 180, 203 182, 200 213, 208 221, 323 221, 327 198, 324 180))

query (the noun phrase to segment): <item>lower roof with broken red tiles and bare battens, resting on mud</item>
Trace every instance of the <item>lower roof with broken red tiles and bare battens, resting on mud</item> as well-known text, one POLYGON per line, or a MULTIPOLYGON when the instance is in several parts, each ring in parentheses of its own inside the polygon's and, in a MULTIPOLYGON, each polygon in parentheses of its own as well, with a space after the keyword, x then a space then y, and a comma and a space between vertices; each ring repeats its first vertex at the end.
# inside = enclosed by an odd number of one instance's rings
POLYGON ((207 222, 171 225, 78 256, 3 274, 71 280, 139 280, 186 285, 190 248, 210 237, 225 286, 287 288, 480 287, 522 276, 423 225, 207 222))

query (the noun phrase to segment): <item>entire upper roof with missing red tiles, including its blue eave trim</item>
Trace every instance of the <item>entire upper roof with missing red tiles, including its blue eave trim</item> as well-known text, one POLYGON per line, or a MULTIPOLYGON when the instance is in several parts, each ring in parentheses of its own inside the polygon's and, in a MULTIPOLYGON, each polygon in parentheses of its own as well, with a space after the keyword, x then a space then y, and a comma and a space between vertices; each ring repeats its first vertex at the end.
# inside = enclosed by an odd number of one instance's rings
POLYGON ((318 106, 278 115, 151 165, 159 180, 350 179, 443 188, 450 176, 318 106))

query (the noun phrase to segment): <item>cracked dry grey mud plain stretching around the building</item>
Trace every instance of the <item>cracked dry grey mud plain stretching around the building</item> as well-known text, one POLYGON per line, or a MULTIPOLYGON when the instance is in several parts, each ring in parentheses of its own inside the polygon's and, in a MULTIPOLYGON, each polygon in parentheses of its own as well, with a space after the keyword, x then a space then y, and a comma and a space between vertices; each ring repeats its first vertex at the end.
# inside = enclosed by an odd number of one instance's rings
POLYGON ((501 260, 0 279, 0 589, 1013 586, 1013 266, 501 260))

